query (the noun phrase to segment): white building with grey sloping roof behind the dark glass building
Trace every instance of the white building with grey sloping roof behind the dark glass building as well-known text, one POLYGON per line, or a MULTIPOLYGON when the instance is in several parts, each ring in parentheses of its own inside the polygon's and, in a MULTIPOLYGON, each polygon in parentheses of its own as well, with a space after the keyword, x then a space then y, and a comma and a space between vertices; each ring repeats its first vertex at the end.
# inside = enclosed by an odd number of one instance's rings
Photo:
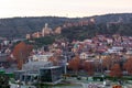
POLYGON ((33 55, 31 58, 29 58, 29 62, 23 65, 22 69, 25 72, 38 73, 40 67, 52 66, 52 63, 48 62, 51 56, 53 56, 52 53, 45 55, 33 55))

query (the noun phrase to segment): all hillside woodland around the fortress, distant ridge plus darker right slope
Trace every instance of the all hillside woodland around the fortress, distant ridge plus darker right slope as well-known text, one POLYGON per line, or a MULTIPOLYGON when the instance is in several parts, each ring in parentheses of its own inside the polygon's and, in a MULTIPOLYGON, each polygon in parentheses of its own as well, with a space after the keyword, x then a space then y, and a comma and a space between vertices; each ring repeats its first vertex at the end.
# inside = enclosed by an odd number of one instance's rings
POLYGON ((87 21, 94 18, 96 23, 94 25, 73 26, 63 30, 62 35, 73 38, 85 38, 92 36, 95 33, 121 33, 123 35, 132 34, 132 13, 120 14, 105 14, 95 15, 89 18, 58 18, 58 16, 41 16, 41 18, 12 18, 0 19, 0 36, 3 37, 24 37, 26 33, 41 31, 45 23, 48 23, 53 30, 56 26, 63 26, 65 23, 87 21), (122 24, 110 25, 107 28, 108 22, 121 21, 122 24), (85 32, 84 32, 85 31, 85 32))

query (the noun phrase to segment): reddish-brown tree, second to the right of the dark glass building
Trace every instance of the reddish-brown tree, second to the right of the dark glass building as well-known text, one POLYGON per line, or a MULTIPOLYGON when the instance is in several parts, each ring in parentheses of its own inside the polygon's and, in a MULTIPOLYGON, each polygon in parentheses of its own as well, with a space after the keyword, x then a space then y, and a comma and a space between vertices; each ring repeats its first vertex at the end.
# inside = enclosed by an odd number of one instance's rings
POLYGON ((84 69, 89 76, 94 75, 94 62, 84 62, 84 69))

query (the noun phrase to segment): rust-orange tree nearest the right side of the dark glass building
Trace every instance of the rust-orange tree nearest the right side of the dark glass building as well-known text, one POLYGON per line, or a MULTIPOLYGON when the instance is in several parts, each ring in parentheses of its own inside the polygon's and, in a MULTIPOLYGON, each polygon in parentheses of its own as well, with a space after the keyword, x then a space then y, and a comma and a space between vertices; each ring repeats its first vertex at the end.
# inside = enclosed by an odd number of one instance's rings
POLYGON ((76 72, 76 75, 77 75, 77 73, 78 73, 78 70, 80 68, 80 58, 79 58, 79 56, 76 56, 72 61, 69 61, 68 68, 76 72))

